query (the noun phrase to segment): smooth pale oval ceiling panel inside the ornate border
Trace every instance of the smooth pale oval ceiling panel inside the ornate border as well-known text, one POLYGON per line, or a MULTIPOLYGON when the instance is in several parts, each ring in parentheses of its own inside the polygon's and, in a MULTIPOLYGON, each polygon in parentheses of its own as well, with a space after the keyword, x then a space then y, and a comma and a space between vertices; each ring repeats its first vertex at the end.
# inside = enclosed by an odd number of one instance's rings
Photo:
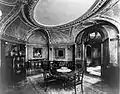
POLYGON ((39 0, 33 11, 34 20, 44 26, 57 26, 85 14, 96 0, 39 0))

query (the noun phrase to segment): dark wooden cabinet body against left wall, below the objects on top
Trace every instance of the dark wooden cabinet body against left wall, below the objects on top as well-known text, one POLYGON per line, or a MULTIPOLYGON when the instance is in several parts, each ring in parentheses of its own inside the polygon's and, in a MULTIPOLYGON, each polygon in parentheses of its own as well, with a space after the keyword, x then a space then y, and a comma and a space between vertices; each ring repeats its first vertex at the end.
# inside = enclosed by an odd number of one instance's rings
POLYGON ((25 56, 6 56, 5 80, 9 84, 25 79, 25 56))

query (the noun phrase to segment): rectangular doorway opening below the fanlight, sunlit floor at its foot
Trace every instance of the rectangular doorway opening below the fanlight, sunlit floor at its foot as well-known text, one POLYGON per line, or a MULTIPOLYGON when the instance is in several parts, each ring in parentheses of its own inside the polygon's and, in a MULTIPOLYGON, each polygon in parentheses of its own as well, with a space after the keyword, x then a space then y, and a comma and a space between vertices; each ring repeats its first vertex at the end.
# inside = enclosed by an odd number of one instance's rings
POLYGON ((101 76, 101 43, 86 45, 86 72, 101 76))

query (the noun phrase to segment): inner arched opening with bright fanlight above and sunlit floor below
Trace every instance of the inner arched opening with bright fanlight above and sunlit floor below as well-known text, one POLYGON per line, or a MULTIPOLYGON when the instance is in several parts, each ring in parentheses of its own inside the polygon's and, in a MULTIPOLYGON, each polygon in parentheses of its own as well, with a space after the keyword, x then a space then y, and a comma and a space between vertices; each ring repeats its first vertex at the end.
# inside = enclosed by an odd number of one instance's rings
POLYGON ((84 44, 85 67, 86 72, 92 75, 101 76, 103 41, 102 33, 95 27, 88 29, 89 32, 84 33, 82 43, 84 44))

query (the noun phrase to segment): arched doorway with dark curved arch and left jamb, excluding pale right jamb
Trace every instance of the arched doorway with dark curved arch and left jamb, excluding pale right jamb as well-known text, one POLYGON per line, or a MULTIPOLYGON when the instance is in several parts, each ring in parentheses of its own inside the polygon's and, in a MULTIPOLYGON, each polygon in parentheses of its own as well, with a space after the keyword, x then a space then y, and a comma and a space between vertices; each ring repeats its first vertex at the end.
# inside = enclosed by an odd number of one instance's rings
POLYGON ((103 33, 103 27, 99 25, 91 26, 77 36, 77 52, 80 54, 77 58, 82 60, 85 71, 89 74, 101 76, 103 45, 108 43, 108 40, 106 43, 104 40, 107 38, 103 33))

